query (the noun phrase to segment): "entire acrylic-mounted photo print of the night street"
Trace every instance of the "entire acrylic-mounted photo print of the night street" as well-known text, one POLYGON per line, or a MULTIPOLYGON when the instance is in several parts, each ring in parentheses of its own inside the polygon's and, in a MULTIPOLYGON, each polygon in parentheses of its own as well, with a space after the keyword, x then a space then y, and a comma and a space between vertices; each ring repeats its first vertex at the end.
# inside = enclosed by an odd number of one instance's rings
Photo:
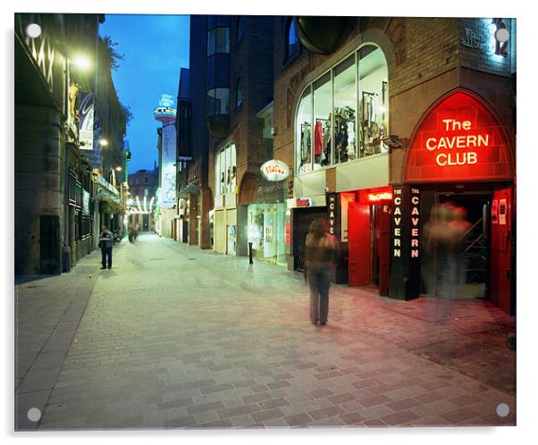
POLYGON ((15 432, 517 425, 515 18, 14 43, 15 432))

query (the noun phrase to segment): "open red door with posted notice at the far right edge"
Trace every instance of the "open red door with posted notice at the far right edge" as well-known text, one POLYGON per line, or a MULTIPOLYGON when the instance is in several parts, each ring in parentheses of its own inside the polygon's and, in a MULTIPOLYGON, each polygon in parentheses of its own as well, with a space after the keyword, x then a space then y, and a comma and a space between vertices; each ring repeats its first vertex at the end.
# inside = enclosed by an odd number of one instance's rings
POLYGON ((490 298, 510 312, 512 275, 512 189, 495 190, 492 197, 490 298))

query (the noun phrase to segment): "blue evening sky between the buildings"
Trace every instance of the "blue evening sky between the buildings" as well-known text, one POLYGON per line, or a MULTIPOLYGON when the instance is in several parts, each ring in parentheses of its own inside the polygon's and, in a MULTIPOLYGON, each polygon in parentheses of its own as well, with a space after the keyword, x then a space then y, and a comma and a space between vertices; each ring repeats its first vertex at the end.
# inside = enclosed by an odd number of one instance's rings
POLYGON ((177 97, 180 68, 189 68, 189 16, 106 14, 99 34, 118 43, 116 50, 124 57, 113 82, 133 114, 125 137, 132 152, 129 172, 153 169, 161 126, 153 109, 163 93, 177 97))

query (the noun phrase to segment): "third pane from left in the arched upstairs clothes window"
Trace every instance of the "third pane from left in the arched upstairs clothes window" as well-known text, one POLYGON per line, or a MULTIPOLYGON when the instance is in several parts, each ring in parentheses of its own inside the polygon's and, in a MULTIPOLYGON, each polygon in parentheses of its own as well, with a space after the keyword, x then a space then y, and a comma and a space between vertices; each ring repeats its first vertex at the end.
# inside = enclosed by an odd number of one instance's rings
POLYGON ((334 69, 334 164, 357 158, 356 77, 355 55, 351 55, 334 69))

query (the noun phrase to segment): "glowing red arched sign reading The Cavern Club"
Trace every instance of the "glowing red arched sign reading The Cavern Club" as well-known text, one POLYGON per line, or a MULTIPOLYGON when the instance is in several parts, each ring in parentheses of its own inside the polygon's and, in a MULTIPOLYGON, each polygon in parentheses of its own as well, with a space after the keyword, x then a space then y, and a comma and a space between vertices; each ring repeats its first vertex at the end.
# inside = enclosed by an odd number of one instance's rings
POLYGON ((405 182, 509 180, 502 124, 480 97, 458 89, 434 104, 413 133, 405 182))

